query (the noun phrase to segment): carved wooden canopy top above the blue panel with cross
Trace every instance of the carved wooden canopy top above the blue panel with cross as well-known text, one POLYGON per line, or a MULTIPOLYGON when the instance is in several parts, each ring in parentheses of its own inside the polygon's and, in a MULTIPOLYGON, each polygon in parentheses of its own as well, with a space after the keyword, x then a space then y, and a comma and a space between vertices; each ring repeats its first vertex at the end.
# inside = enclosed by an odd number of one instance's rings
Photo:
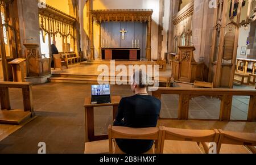
POLYGON ((101 22, 151 22, 153 10, 150 9, 110 9, 92 10, 93 21, 101 22))

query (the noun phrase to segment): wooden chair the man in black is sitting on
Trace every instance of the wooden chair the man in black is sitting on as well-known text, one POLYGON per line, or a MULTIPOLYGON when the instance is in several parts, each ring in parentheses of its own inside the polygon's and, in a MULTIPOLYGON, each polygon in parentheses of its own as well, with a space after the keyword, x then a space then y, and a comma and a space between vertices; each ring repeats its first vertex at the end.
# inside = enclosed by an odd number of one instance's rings
POLYGON ((123 126, 109 125, 109 153, 124 154, 115 144, 113 152, 113 139, 148 139, 155 140, 154 150, 151 149, 145 154, 159 154, 162 137, 160 128, 128 128, 123 126))

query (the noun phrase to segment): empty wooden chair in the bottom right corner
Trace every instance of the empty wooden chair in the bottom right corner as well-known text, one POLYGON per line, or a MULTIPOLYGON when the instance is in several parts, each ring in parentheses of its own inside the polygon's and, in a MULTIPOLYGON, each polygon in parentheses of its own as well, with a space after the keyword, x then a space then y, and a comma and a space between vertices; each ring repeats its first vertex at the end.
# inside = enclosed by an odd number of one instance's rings
POLYGON ((251 151, 246 146, 256 146, 256 133, 218 131, 220 132, 220 139, 217 145, 217 153, 250 154, 251 151))

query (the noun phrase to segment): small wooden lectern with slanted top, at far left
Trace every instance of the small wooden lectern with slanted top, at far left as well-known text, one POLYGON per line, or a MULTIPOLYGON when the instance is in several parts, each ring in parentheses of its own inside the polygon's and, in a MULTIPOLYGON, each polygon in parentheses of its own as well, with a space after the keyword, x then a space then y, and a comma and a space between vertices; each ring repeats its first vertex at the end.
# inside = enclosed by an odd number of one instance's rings
POLYGON ((25 61, 24 58, 16 58, 15 60, 9 62, 13 68, 13 81, 14 82, 25 82, 25 61))

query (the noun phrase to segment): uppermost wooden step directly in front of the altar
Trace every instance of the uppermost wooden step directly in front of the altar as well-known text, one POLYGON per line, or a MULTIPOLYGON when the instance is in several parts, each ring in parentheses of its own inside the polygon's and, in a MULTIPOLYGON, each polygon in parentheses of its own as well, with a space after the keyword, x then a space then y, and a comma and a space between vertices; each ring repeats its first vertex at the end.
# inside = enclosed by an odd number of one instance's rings
MULTIPOLYGON (((81 62, 83 65, 110 65, 110 60, 87 60, 81 62)), ((115 65, 155 65, 154 61, 115 61, 115 65)))

